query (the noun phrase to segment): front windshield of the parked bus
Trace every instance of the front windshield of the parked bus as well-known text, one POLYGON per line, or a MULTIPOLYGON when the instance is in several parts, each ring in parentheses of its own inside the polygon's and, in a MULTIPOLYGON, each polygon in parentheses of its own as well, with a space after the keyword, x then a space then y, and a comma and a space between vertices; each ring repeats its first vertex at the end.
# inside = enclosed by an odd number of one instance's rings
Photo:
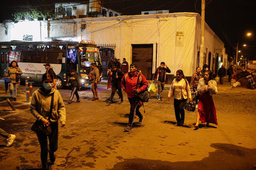
POLYGON ((100 52, 98 48, 86 47, 86 53, 83 53, 82 47, 79 47, 81 66, 90 67, 91 63, 100 63, 100 52))

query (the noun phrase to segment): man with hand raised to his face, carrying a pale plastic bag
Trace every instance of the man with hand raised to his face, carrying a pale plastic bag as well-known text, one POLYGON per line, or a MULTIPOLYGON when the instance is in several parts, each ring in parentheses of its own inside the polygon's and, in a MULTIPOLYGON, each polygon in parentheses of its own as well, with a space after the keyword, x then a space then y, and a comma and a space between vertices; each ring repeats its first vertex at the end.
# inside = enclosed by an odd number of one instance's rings
POLYGON ((168 68, 168 66, 164 62, 161 62, 160 66, 156 68, 156 71, 154 73, 152 83, 154 83, 154 80, 156 79, 157 87, 158 87, 158 93, 156 95, 158 100, 160 101, 162 100, 161 92, 164 90, 166 73, 170 73, 170 72, 171 70, 168 68))

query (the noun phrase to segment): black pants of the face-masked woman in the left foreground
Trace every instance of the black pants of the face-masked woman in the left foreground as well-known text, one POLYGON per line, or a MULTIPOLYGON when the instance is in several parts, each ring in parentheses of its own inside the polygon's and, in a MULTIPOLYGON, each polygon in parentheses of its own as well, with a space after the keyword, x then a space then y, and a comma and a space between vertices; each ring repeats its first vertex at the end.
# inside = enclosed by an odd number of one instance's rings
MULTIPOLYGON (((55 152, 58 149, 58 122, 50 124, 52 128, 52 133, 48 135, 49 138, 49 148, 51 152, 55 152)), ((41 162, 42 167, 47 168, 48 160, 48 141, 47 136, 43 133, 37 133, 37 138, 41 147, 41 162)))

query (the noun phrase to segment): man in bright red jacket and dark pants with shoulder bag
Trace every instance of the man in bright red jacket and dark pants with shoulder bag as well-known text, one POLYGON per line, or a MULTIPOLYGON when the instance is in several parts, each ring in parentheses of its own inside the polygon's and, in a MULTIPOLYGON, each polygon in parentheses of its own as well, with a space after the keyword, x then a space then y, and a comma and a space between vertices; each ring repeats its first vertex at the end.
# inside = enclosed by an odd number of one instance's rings
POLYGON ((140 118, 139 124, 143 123, 144 116, 139 111, 139 102, 140 97, 138 97, 138 93, 145 91, 148 87, 148 82, 144 75, 138 73, 138 67, 136 64, 130 65, 130 72, 126 73, 121 81, 121 86, 123 90, 127 93, 128 100, 130 102, 130 115, 129 115, 129 124, 126 128, 127 131, 132 130, 132 123, 134 121, 135 114, 140 118), (139 81, 138 81, 139 77, 139 81), (137 82, 138 86, 137 86, 137 82))

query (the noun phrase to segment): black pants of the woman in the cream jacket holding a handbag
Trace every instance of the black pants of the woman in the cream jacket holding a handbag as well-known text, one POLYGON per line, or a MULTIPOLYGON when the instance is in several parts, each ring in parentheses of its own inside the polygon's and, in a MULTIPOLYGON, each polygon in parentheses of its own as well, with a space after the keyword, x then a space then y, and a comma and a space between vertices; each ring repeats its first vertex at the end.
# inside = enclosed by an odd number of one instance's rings
POLYGON ((177 100, 174 99, 174 111, 175 111, 175 117, 177 123, 184 123, 185 120, 185 111, 184 111, 184 106, 186 103, 187 99, 181 99, 177 100))

